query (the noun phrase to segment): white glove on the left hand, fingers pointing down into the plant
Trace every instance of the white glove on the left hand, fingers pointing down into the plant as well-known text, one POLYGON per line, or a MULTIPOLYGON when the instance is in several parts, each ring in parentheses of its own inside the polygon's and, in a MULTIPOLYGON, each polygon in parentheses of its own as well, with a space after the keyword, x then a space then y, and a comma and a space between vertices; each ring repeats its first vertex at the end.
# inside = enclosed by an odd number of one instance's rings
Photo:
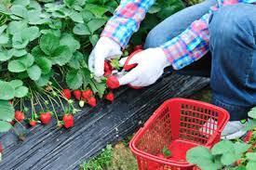
POLYGON ((97 77, 104 74, 104 60, 115 59, 122 55, 121 46, 108 37, 101 37, 88 59, 88 69, 97 77))

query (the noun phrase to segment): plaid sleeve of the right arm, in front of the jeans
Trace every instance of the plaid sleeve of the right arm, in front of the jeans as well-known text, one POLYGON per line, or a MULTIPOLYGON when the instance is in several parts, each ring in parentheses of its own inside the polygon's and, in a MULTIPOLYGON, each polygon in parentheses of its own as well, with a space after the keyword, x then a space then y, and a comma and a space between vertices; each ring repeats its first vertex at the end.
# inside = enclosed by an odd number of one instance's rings
POLYGON ((209 17, 195 20, 183 33, 162 45, 173 69, 180 70, 209 51, 209 17))

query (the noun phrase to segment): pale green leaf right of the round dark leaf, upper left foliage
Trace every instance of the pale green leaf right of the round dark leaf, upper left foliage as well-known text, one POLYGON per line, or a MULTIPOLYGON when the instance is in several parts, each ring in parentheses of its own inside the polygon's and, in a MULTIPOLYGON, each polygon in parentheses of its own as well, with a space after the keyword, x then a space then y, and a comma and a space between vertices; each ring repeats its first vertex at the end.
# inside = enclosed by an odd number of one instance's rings
POLYGON ((70 51, 74 53, 76 49, 80 48, 80 43, 74 39, 74 36, 69 33, 64 33, 61 37, 61 46, 68 46, 70 51))

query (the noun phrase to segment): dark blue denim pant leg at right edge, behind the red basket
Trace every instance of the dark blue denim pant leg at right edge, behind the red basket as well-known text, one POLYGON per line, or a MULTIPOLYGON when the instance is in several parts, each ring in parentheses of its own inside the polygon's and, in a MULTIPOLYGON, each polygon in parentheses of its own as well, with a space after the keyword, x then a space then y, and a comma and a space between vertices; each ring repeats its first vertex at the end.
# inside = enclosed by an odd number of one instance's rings
POLYGON ((222 7, 209 21, 212 102, 231 121, 256 105, 256 5, 222 7))

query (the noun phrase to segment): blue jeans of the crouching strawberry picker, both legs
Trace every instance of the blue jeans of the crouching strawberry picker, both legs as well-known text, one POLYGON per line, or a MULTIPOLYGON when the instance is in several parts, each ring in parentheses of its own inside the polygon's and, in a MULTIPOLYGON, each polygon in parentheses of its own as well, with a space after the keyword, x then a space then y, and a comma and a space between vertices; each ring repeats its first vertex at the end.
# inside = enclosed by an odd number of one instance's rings
MULTIPOLYGON (((216 3, 187 7, 158 24, 145 48, 160 46, 182 33, 216 3)), ((179 72, 210 77, 212 103, 229 111, 231 121, 248 118, 256 105, 256 5, 222 7, 209 20, 210 52, 179 72)))

